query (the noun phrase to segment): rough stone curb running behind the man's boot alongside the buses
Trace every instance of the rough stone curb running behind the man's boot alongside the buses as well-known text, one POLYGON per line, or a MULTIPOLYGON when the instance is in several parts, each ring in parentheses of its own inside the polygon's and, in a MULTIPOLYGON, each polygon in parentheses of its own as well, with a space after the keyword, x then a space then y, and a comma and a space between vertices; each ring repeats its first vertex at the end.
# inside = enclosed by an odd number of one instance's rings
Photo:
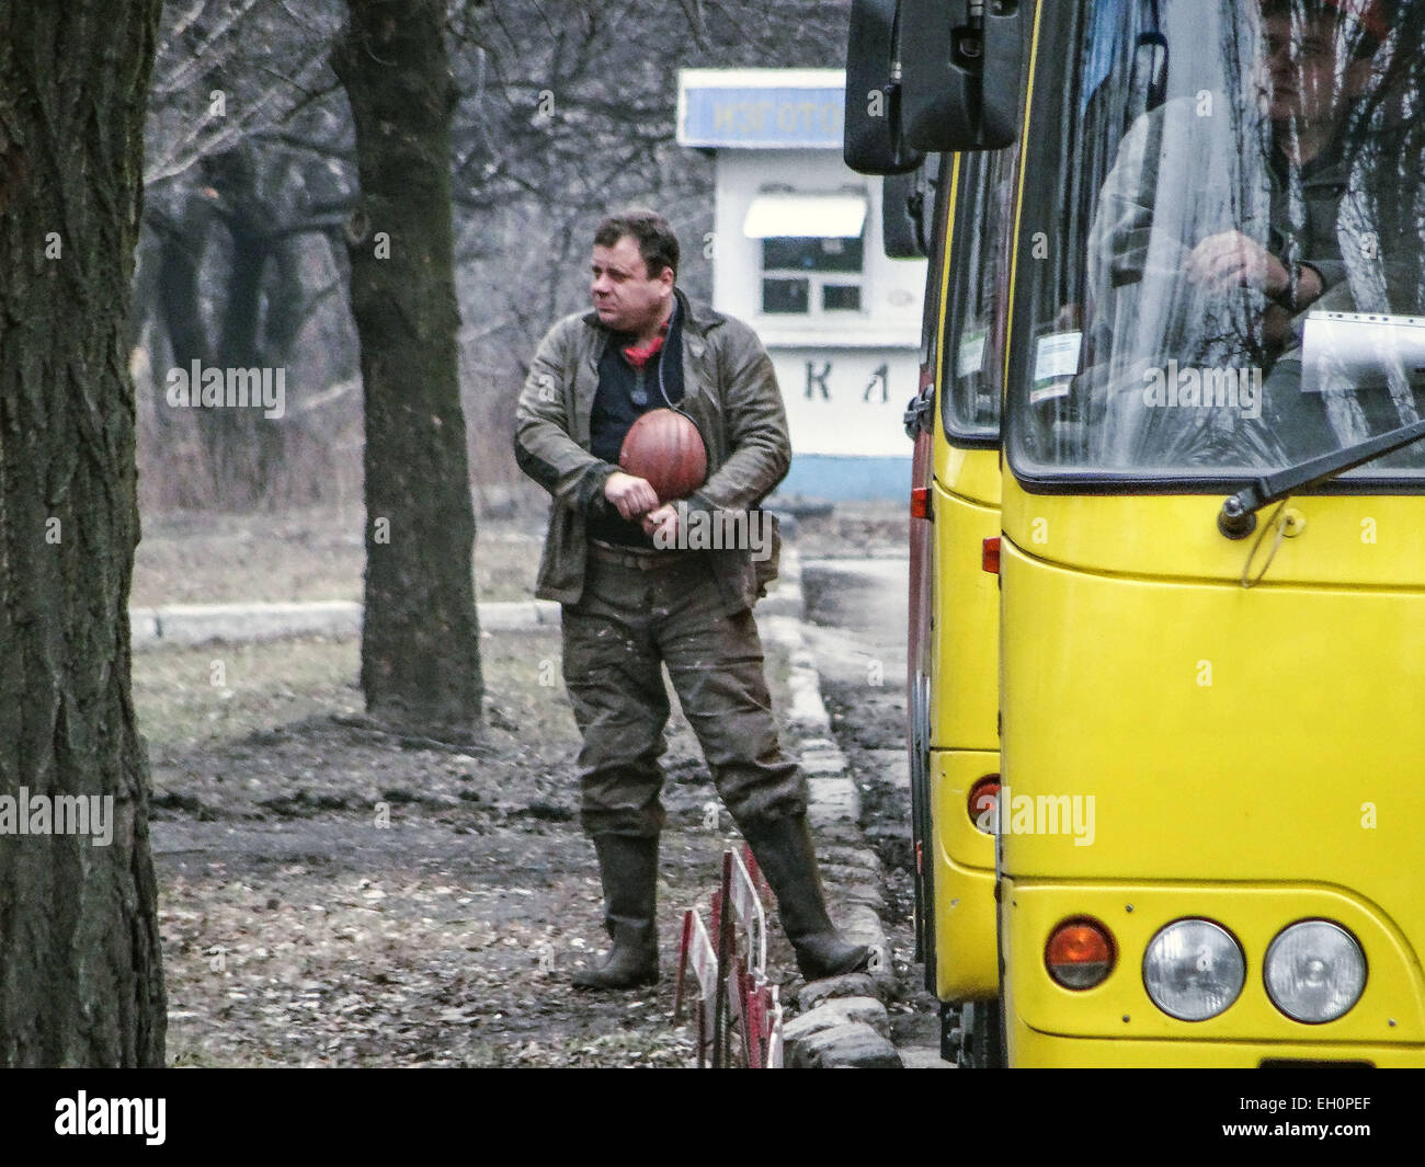
MULTIPOLYGON (((801 1013, 782 1032, 789 1067, 901 1069, 891 1044, 885 999, 895 985, 891 946, 881 912, 881 861, 861 832, 861 791, 846 758, 831 734, 831 717, 821 698, 821 674, 802 631, 805 603, 801 564, 784 554, 782 607, 757 606, 762 638, 791 655, 792 727, 804 735, 799 762, 811 791, 808 816, 817 832, 822 882, 831 915, 842 933, 872 949, 871 972, 814 980, 798 996, 801 1013), (788 564, 788 559, 792 561, 788 564), (788 611, 787 608, 794 608, 788 611)), ((768 596, 771 600, 772 596, 768 596)))

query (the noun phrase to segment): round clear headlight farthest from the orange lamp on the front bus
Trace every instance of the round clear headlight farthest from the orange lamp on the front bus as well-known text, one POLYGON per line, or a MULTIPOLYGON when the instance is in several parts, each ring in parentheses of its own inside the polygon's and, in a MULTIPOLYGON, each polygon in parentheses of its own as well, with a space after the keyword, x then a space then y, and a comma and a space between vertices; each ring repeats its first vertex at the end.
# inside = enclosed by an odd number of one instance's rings
POLYGON ((1294 1022, 1334 1022, 1361 999, 1365 953, 1330 920, 1302 920, 1267 949, 1267 996, 1294 1022))

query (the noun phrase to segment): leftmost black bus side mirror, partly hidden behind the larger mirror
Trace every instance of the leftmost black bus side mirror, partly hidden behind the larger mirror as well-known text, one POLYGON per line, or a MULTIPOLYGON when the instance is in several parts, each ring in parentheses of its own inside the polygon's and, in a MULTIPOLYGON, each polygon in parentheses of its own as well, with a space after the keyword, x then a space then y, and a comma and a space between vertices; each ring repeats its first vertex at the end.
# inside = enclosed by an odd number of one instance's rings
POLYGON ((852 0, 844 157, 858 174, 905 174, 925 155, 901 133, 898 0, 852 0))

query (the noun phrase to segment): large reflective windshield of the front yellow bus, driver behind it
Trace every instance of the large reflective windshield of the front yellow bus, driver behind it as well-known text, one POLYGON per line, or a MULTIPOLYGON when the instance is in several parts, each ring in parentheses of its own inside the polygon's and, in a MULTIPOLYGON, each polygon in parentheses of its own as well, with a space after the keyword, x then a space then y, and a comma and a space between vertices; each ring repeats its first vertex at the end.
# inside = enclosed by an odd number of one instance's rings
MULTIPOLYGON (((1425 416, 1425 0, 1040 21, 1016 472, 1208 490, 1425 416)), ((1421 489, 1425 445, 1347 479, 1421 489)))

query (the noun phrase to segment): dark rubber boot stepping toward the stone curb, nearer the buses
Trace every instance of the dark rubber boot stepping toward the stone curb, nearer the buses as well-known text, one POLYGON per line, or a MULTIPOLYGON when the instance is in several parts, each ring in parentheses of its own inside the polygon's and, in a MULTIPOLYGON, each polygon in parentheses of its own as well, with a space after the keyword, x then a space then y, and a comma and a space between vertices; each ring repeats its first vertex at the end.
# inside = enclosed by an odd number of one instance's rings
POLYGON ((808 980, 821 980, 864 969, 871 949, 844 940, 826 915, 817 845, 807 816, 748 824, 742 835, 777 895, 782 929, 797 950, 801 975, 808 980))

